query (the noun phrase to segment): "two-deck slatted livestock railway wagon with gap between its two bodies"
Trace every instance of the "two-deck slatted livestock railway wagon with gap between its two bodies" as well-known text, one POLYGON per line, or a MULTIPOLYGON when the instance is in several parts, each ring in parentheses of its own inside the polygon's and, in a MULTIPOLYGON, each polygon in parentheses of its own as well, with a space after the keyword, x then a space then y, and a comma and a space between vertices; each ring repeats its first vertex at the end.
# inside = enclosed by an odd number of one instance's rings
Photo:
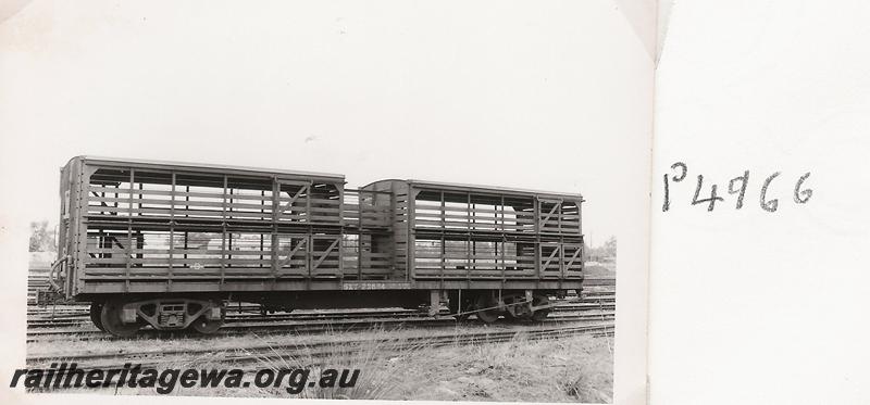
POLYGON ((583 280, 576 193, 77 156, 60 194, 51 293, 122 337, 214 332, 231 300, 539 320, 583 280))

